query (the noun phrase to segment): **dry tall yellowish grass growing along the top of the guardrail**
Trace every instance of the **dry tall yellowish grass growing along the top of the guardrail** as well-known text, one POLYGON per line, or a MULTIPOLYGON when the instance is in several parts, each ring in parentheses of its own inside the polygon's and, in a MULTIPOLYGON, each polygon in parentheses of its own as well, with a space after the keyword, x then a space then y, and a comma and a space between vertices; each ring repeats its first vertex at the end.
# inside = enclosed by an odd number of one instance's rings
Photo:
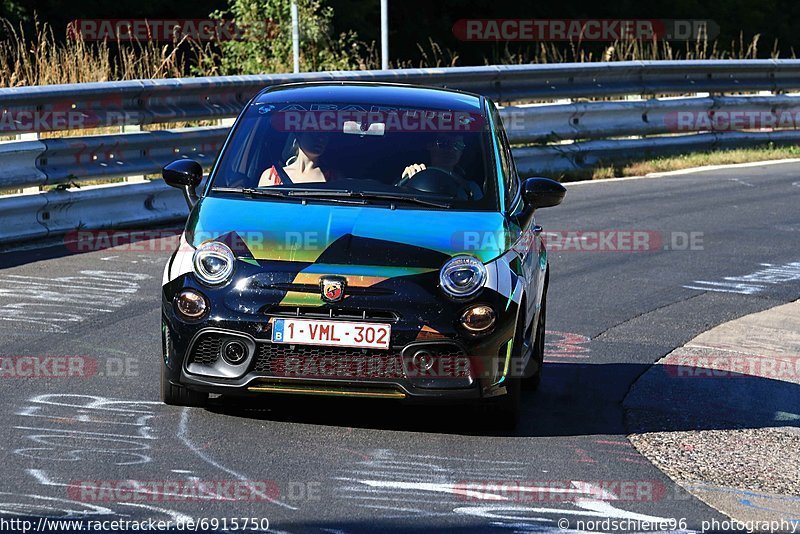
MULTIPOLYGON (((0 87, 81 83, 109 80, 169 78, 217 74, 221 64, 219 47, 214 43, 193 42, 85 42, 67 35, 57 39, 47 23, 36 23, 35 35, 29 37, 21 27, 0 20, 0 87)), ((362 61, 358 68, 376 68, 379 64, 374 43, 360 43, 362 61)), ((752 59, 758 54, 759 36, 746 41, 740 35, 727 47, 718 42, 698 39, 677 46, 665 41, 627 40, 599 47, 597 43, 539 43, 524 51, 501 50, 486 62, 505 64, 564 63, 591 61, 661 60, 661 59, 752 59)), ((432 39, 418 45, 420 60, 394 61, 395 68, 451 67, 459 63, 456 51, 443 49, 432 39)), ((770 56, 778 57, 777 43, 770 56)), ((794 52, 792 52, 794 57, 794 52)), ((244 73, 257 74, 257 73, 244 73)))

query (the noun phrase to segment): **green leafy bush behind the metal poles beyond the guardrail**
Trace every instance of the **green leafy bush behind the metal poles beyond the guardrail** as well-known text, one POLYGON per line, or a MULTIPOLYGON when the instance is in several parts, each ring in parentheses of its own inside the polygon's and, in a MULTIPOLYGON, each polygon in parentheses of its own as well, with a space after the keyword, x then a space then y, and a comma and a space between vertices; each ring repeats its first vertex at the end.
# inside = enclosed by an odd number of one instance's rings
MULTIPOLYGON (((300 70, 372 68, 374 48, 354 32, 333 35, 333 9, 322 0, 298 0, 300 70)), ((227 12, 213 19, 232 20, 244 29, 242 40, 219 43, 220 54, 208 57, 198 74, 260 74, 292 72, 291 0, 229 0, 227 12)))

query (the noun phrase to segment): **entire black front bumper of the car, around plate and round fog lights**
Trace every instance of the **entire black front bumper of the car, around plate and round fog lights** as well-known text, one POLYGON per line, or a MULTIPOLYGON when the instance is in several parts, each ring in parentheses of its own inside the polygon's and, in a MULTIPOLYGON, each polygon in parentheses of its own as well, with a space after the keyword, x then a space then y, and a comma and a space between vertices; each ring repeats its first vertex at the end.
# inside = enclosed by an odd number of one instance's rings
MULTIPOLYGON (((386 302, 375 306, 353 297, 348 302, 350 313, 353 308, 365 310, 364 322, 391 324, 388 351, 273 344, 270 320, 314 318, 313 314, 306 315, 309 308, 297 307, 296 315, 289 310, 252 313, 233 308, 228 304, 230 295, 217 291, 222 294, 197 285, 191 275, 164 286, 163 355, 167 377, 173 384, 225 395, 289 393, 411 402, 462 401, 506 392, 503 374, 511 355, 518 306, 494 291, 484 290, 470 303, 490 304, 498 312, 494 329, 478 338, 465 335, 456 325, 464 303, 443 301, 438 295, 394 299, 392 314, 382 320, 377 311, 385 311, 386 302), (186 321, 175 312, 174 296, 187 287, 201 291, 211 303, 211 312, 200 321, 186 321), (248 347, 248 358, 240 365, 214 359, 219 353, 214 343, 231 338, 248 347), (418 365, 415 354, 420 350, 432 355, 432 369, 426 371, 418 365), (200 358, 198 353, 202 353, 200 358)), ((332 320, 341 311, 335 305, 324 308, 330 311, 332 320)), ((318 308, 314 310, 319 312, 318 308)), ((353 319, 348 316, 342 320, 353 319)))

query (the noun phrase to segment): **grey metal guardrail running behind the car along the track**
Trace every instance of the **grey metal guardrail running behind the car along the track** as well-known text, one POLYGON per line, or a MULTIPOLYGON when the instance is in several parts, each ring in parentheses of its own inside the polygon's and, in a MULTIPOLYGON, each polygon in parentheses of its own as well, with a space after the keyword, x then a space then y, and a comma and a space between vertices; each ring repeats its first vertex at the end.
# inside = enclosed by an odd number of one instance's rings
MULTIPOLYGON (((800 90, 798 60, 508 65, 0 89, 0 135, 225 119, 265 86, 323 80, 415 83, 490 96, 505 106, 501 115, 512 143, 527 145, 514 150, 523 175, 632 155, 800 141, 797 125, 785 121, 800 117, 800 96, 793 94, 800 90), (710 120, 742 112, 758 122, 719 129, 710 120)), ((154 174, 181 156, 208 166, 226 133, 201 127, 2 143, 0 189, 154 174)), ((0 243, 76 227, 171 222, 185 216, 180 198, 159 183, 4 197, 0 243), (122 208, 125 198, 129 208, 122 208), (30 231, 20 224, 26 218, 30 231)))

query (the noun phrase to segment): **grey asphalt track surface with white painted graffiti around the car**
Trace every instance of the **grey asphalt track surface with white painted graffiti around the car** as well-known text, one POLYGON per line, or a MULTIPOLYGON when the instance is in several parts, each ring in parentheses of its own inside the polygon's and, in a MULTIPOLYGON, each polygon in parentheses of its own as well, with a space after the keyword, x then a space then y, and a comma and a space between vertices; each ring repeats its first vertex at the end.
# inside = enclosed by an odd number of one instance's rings
MULTIPOLYGON (((699 530, 722 516, 633 449, 622 401, 652 362, 698 333, 800 298, 798 207, 797 164, 570 187, 561 207, 537 218, 559 236, 549 364, 513 434, 478 428, 457 406, 273 397, 164 406, 168 239, 139 250, 76 253, 59 243, 4 253, 0 355, 51 356, 90 376, 3 370, 0 510, 229 527, 251 518, 289 532, 615 530, 578 524, 604 519, 660 531, 680 530, 682 518, 699 530), (605 250, 586 250, 595 247, 605 250), (126 480, 153 493, 134 498, 126 480), (199 484, 217 495, 193 495, 199 484), (658 518, 676 527, 635 523, 658 518)), ((691 426, 653 430, 680 425, 691 426)))

